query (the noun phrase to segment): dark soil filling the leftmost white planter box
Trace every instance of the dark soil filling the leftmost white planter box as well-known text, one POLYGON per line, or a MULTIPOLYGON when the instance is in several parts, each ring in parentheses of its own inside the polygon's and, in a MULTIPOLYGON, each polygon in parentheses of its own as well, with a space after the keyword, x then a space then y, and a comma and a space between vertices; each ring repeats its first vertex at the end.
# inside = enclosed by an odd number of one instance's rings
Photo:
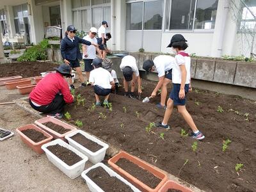
POLYGON ((48 150, 52 152, 55 156, 61 159, 61 161, 65 162, 69 166, 76 164, 77 162, 81 161, 82 158, 77 156, 72 150, 68 148, 62 147, 60 145, 51 145, 47 147, 48 150))

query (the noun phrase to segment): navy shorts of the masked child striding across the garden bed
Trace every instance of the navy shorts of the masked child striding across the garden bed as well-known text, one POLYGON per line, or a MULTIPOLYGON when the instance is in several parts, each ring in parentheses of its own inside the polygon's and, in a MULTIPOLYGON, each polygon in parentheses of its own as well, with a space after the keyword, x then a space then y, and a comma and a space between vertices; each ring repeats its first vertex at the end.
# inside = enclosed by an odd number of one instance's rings
POLYGON ((186 104, 186 95, 189 90, 189 84, 185 84, 185 99, 179 98, 180 84, 173 83, 172 91, 170 92, 169 98, 173 100, 175 106, 184 106, 186 104))

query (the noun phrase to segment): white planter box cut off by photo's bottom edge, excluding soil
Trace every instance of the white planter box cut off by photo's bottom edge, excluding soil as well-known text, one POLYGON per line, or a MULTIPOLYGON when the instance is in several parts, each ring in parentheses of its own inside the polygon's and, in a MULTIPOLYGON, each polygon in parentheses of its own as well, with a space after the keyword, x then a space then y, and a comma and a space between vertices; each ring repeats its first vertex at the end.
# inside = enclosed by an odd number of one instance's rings
POLYGON ((109 175, 111 177, 116 177, 117 179, 121 180, 122 182, 124 182, 125 184, 127 184, 127 186, 130 186, 131 189, 133 191, 140 191, 139 189, 137 189, 136 187, 134 187, 130 182, 128 182, 127 180, 125 180, 123 177, 121 177, 120 175, 118 175, 116 172, 114 172, 113 170, 111 170, 111 168, 109 168, 108 166, 106 166, 105 164, 103 163, 97 163, 95 165, 93 165, 92 167, 88 168, 87 170, 85 170, 83 173, 82 173, 82 177, 84 180, 86 180, 86 184, 88 186, 88 188, 90 189, 90 191, 92 192, 104 192, 102 189, 99 188, 99 186, 97 186, 97 184, 95 184, 95 182, 93 182, 92 179, 90 179, 86 173, 88 173, 90 170, 94 169, 94 168, 97 168, 101 166, 102 168, 104 168, 104 170, 106 172, 109 173, 109 175))

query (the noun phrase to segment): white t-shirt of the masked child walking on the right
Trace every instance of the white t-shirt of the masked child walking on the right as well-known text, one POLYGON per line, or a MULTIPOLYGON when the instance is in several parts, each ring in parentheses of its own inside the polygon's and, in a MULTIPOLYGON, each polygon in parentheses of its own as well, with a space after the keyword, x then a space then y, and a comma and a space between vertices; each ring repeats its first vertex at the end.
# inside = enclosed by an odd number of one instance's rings
MULTIPOLYGON (((182 51, 184 54, 186 52, 182 51)), ((181 54, 177 54, 175 56, 175 65, 172 69, 172 83, 181 84, 181 72, 180 72, 180 65, 185 65, 187 76, 185 84, 190 83, 190 57, 182 56, 181 54)))

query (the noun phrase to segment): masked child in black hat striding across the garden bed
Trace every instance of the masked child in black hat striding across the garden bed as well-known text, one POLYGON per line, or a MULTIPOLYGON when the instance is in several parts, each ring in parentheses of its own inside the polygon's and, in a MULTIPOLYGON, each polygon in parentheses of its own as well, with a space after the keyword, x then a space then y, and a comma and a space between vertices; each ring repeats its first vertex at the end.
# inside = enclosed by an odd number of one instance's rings
POLYGON ((163 122, 157 123, 157 127, 164 129, 170 129, 168 120, 172 115, 173 106, 177 106, 179 113, 183 116, 189 127, 192 129, 192 138, 196 140, 204 139, 204 134, 198 131, 191 115, 189 115, 186 109, 186 93, 189 92, 190 83, 190 57, 189 54, 184 52, 188 47, 184 36, 180 34, 173 35, 168 47, 172 47, 173 52, 176 53, 175 65, 172 70, 172 83, 173 88, 170 93, 170 98, 167 101, 166 111, 164 113, 163 122))

